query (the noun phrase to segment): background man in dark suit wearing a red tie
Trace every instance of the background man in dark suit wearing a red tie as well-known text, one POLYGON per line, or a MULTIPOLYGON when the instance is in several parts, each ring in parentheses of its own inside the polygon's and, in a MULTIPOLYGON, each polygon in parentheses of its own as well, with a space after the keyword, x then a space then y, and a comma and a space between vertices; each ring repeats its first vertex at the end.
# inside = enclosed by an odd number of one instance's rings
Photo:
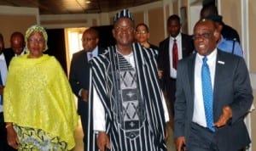
POLYGON ((159 75, 166 97, 170 101, 172 115, 174 115, 173 104, 175 102, 177 66, 174 66, 174 41, 177 42, 177 58, 183 59, 194 50, 192 37, 180 32, 180 18, 173 14, 167 20, 167 30, 170 34, 164 41, 160 42, 159 75))

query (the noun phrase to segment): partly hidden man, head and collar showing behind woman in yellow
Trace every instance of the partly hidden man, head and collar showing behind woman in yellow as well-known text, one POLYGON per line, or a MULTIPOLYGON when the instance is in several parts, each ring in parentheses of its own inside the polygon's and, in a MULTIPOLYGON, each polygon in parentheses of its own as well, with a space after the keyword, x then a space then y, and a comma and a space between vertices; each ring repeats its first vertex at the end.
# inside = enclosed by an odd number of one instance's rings
POLYGON ((25 54, 25 41, 24 35, 21 32, 15 31, 10 37, 11 47, 7 48, 6 51, 11 53, 13 56, 19 56, 25 54))

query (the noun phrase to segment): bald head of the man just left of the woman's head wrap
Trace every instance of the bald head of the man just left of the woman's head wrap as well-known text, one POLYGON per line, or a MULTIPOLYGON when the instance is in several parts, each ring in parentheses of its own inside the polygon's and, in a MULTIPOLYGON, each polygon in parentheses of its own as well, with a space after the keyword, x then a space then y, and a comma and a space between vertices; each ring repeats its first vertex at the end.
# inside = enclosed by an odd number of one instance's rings
POLYGON ((15 54, 20 55, 25 47, 24 36, 20 32, 14 32, 10 38, 11 48, 15 54))

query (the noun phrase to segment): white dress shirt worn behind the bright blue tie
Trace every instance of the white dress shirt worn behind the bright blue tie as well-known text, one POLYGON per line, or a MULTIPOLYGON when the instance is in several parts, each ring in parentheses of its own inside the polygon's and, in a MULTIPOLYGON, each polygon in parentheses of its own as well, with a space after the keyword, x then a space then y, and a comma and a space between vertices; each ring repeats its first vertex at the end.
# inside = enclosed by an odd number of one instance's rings
MULTIPOLYGON (((201 87, 201 66, 202 59, 204 56, 201 56, 199 53, 196 53, 195 57, 195 98, 194 98, 194 112, 192 121, 199 124, 200 126, 207 127, 207 120, 205 115, 205 107, 202 96, 202 87, 201 87)), ((211 54, 207 55, 207 64, 209 66, 211 81, 212 81, 212 90, 214 92, 214 77, 215 77, 215 67, 216 67, 216 58, 217 58, 217 49, 215 48, 211 54)))

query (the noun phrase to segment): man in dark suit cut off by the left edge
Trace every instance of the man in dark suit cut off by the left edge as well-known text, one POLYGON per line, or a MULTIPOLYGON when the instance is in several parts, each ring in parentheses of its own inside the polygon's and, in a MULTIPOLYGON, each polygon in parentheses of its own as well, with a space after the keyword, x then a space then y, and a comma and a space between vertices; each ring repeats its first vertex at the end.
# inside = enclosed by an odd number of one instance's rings
POLYGON ((9 62, 13 55, 3 50, 3 35, 0 33, 0 151, 14 151, 7 141, 7 131, 3 119, 3 89, 8 74, 9 62))

